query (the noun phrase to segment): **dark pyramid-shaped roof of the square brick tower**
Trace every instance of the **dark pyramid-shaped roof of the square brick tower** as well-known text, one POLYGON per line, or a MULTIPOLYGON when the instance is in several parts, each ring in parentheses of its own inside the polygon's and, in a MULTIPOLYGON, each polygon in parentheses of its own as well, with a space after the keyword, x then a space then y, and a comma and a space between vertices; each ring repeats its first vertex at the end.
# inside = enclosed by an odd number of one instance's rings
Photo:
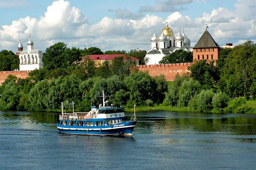
POLYGON ((209 48, 209 47, 219 47, 219 46, 206 29, 202 37, 197 42, 197 44, 195 44, 194 48, 209 48))

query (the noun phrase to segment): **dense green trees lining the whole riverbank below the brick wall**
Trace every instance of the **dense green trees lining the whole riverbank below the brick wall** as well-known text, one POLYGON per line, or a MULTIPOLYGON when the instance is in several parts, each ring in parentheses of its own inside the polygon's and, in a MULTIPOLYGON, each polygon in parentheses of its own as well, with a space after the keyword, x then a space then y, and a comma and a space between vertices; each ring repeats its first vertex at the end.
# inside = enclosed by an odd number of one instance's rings
MULTIPOLYGON (((50 46, 44 53, 44 68, 29 73, 26 79, 7 77, 0 86, 0 109, 55 110, 60 109, 61 101, 69 100, 77 110, 88 110, 91 101, 93 105, 100 103, 102 90, 115 106, 168 105, 201 112, 250 112, 246 99, 250 95, 256 98, 256 45, 252 41, 233 50, 221 49, 216 63, 196 61, 187 75, 177 74, 169 88, 164 76, 152 78, 140 72, 129 57, 141 56, 141 62, 146 62, 144 51, 106 51, 126 56, 99 67, 90 58, 81 61, 82 56, 96 53, 103 54, 96 47, 80 50, 67 48, 63 42, 50 46)), ((178 58, 184 54, 176 53, 178 58)))

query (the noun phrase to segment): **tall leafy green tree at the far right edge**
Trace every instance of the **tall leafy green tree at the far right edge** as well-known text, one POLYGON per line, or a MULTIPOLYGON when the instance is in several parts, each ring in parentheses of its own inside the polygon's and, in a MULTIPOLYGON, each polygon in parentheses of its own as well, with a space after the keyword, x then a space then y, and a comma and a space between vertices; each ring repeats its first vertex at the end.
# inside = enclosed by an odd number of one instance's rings
POLYGON ((228 54, 221 70, 220 89, 231 97, 249 97, 256 79, 256 44, 251 40, 238 45, 228 54))

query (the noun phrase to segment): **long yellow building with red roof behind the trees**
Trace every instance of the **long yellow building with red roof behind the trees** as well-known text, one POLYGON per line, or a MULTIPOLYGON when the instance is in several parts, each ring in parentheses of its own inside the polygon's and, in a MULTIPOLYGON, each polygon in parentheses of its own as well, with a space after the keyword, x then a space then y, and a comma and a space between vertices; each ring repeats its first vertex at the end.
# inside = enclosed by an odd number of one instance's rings
MULTIPOLYGON (((94 61, 96 66, 99 66, 104 61, 108 61, 111 64, 112 60, 119 56, 123 56, 125 59, 124 54, 95 54, 95 55, 84 56, 84 57, 82 57, 82 60, 84 60, 86 57, 89 57, 91 60, 94 61)), ((139 65, 139 58, 131 57, 131 59, 134 61, 135 65, 139 65)))

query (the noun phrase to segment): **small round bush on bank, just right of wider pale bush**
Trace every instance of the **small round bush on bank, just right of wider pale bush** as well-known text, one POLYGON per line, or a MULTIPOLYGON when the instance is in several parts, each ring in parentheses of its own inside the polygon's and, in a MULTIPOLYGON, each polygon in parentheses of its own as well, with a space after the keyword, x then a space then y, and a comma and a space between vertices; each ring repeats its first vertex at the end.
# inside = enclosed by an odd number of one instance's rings
POLYGON ((228 101, 229 97, 225 92, 216 93, 212 98, 212 106, 214 112, 223 112, 224 108, 228 106, 228 101))

